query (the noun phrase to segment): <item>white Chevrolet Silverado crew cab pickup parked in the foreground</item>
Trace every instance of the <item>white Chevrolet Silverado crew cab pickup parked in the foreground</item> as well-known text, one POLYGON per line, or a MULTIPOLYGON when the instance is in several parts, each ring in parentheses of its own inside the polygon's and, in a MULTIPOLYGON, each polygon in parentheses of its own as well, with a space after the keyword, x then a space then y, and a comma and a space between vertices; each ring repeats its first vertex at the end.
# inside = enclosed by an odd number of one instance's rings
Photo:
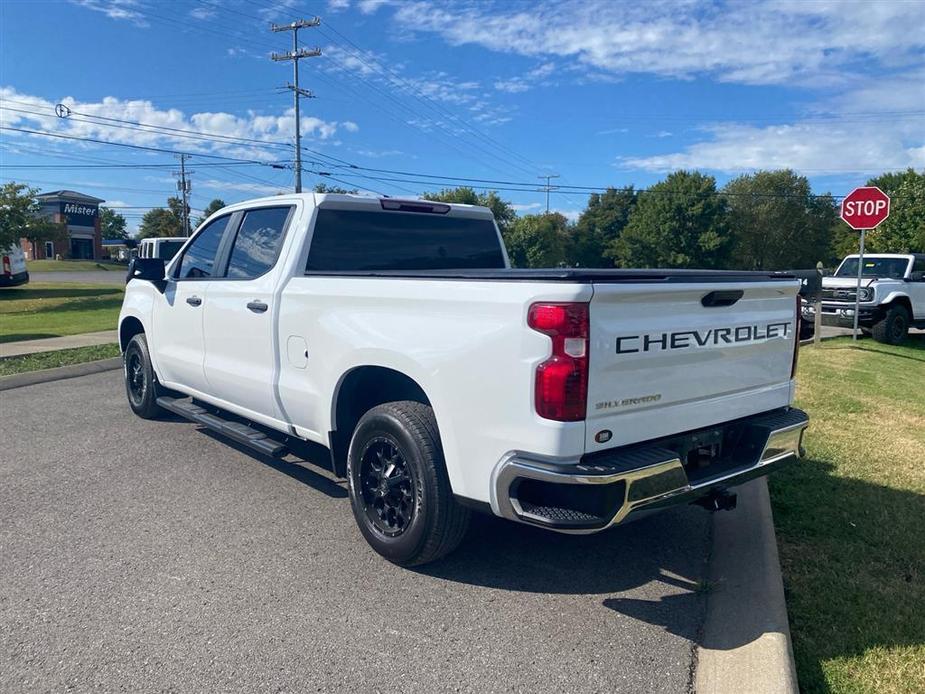
POLYGON ((210 217, 129 268, 131 408, 265 455, 308 441, 402 565, 473 509, 571 533, 802 454, 799 283, 697 270, 514 270, 491 212, 299 194, 210 217))

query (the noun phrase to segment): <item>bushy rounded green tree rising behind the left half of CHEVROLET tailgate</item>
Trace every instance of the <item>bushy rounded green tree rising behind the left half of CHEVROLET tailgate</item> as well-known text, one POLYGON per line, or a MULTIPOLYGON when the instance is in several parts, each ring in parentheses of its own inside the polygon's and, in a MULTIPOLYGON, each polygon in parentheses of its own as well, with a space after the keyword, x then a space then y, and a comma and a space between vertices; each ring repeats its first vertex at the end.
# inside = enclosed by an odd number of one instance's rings
POLYGON ((638 194, 613 256, 623 267, 722 268, 731 241, 716 180, 676 171, 638 194))

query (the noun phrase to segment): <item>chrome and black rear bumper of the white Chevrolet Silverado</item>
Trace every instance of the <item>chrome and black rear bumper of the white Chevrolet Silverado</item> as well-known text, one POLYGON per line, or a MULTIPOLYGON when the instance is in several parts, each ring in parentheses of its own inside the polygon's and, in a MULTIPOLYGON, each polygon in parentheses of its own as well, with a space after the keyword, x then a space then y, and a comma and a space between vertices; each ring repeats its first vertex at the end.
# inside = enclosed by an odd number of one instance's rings
POLYGON ((562 532, 597 532, 667 506, 724 498, 728 487, 802 456, 808 425, 805 412, 786 408, 575 462, 514 452, 495 468, 492 509, 562 532), (716 455, 704 465, 705 446, 716 455))

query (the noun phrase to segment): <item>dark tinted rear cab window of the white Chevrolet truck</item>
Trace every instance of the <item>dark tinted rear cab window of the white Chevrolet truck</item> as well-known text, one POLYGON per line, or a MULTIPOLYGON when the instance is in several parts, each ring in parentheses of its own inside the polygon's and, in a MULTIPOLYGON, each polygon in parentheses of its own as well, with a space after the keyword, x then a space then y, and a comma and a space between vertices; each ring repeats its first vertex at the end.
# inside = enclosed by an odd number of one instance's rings
POLYGON ((436 213, 318 210, 306 273, 500 269, 494 221, 436 213))

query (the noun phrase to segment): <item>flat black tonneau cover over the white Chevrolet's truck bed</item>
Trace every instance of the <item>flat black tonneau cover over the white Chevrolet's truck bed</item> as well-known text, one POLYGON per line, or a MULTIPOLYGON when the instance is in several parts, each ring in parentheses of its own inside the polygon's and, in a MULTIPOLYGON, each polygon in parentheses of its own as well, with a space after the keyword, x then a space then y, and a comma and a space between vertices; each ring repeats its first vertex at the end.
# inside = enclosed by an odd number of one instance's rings
POLYGON ((416 280, 479 280, 489 282, 595 282, 618 283, 689 283, 689 282, 767 282, 794 280, 786 272, 752 272, 744 270, 621 270, 590 268, 494 270, 375 270, 358 272, 309 271, 309 277, 368 277, 416 280))

